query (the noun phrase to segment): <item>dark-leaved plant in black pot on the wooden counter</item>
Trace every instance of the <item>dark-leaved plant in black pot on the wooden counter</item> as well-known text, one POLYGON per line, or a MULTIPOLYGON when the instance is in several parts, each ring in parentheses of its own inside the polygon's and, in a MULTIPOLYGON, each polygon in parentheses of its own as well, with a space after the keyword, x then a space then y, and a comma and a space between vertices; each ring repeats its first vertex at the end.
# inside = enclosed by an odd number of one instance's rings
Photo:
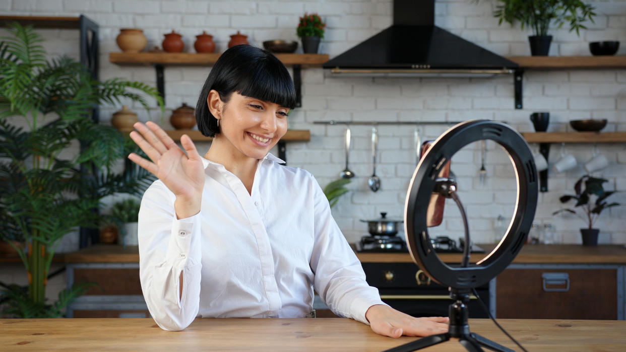
POLYGON ((553 215, 562 212, 572 213, 587 223, 587 228, 580 229, 584 246, 596 246, 598 244, 600 229, 593 228, 593 224, 595 224, 600 213, 604 209, 620 205, 619 203, 608 203, 606 201, 608 196, 615 193, 615 191, 604 190, 602 184, 607 181, 607 179, 595 178, 589 175, 582 176, 574 185, 575 195, 565 194, 565 196, 559 198, 561 203, 567 203, 572 199, 575 200, 575 209, 565 208, 552 213, 553 215), (585 185, 584 189, 583 184, 585 185), (592 201, 592 196, 595 198, 595 201, 592 201), (576 209, 582 209, 583 214, 578 213, 576 209))

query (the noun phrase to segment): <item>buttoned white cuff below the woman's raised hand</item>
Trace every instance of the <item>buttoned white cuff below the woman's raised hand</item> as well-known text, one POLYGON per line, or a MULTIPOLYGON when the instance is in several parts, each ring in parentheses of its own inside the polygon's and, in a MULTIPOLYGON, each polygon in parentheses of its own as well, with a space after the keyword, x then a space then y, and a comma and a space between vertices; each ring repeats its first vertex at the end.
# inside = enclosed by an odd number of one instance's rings
POLYGON ((185 219, 173 219, 167 260, 177 268, 200 262, 200 213, 185 219))

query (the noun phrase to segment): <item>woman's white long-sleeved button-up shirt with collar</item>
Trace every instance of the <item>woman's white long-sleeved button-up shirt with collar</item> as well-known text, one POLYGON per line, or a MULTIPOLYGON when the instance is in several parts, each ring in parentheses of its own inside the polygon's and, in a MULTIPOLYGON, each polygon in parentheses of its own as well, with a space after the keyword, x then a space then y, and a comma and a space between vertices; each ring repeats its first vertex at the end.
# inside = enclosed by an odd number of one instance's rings
POLYGON ((312 174, 267 154, 250 194, 224 166, 202 161, 200 213, 177 219, 160 180, 141 200, 141 289, 158 326, 181 330, 196 316, 308 317, 314 288, 334 313, 363 323, 370 306, 384 304, 312 174))

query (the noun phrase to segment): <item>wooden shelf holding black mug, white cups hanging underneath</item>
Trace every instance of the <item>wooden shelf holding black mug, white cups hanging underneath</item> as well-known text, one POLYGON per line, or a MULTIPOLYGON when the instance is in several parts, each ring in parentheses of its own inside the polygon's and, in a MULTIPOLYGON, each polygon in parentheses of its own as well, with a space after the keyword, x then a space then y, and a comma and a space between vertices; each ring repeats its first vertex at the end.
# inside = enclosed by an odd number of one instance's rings
POLYGON ((626 132, 533 132, 521 134, 528 143, 622 143, 626 132))

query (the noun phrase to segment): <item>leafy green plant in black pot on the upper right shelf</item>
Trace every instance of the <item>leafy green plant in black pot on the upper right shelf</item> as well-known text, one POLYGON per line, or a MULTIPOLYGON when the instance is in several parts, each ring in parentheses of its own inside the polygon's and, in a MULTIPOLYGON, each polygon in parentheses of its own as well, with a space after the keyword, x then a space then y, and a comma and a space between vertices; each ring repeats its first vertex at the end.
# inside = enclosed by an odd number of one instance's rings
POLYGON ((506 21, 513 25, 520 21, 521 29, 530 27, 533 35, 528 36, 532 56, 548 56, 552 36, 548 35, 551 26, 561 28, 570 24, 570 32, 580 36, 582 23, 589 19, 593 22, 593 6, 582 0, 498 0, 493 16, 500 18, 500 24, 506 21))

